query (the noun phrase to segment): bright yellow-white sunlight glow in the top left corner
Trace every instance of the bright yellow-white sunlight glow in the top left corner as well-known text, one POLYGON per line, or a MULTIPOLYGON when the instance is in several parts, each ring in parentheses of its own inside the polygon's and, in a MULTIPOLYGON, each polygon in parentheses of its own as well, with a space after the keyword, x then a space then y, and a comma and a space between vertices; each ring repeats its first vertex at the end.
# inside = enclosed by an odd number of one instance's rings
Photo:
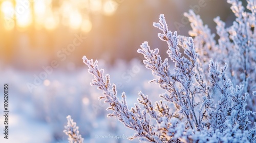
POLYGON ((5 30, 54 30, 59 24, 90 32, 90 14, 113 15, 118 4, 111 0, 0 0, 0 21, 5 30), (61 22, 61 23, 60 23, 61 22))

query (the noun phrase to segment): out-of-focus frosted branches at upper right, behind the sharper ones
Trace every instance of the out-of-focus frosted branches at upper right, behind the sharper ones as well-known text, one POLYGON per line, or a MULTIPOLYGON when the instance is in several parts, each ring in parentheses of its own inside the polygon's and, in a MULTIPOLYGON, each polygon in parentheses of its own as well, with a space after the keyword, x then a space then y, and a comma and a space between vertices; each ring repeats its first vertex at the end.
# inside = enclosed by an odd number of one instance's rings
MULTIPOLYGON (((195 36, 194 44, 196 52, 199 53, 198 63, 199 72, 208 80, 207 72, 208 61, 210 58, 219 61, 222 65, 228 63, 227 76, 233 85, 243 84, 243 92, 250 95, 256 90, 256 1, 247 1, 246 12, 242 2, 238 0, 228 0, 231 10, 236 15, 233 25, 225 28, 225 23, 216 17, 217 34, 219 35, 218 44, 214 40, 215 35, 210 33, 207 26, 203 25, 202 20, 193 11, 185 13, 191 22, 192 31, 190 36, 195 36)), ((256 106, 256 97, 248 96, 247 109, 252 110, 256 106)), ((250 118, 256 122, 255 116, 250 118)))

